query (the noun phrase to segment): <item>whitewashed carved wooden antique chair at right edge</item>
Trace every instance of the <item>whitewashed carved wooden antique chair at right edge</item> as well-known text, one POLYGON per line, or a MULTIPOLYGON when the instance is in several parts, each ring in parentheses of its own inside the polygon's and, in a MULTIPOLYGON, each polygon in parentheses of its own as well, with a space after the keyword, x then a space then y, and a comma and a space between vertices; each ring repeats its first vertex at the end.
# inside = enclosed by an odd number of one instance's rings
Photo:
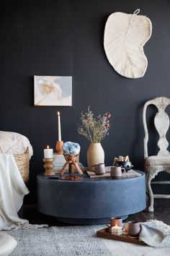
POLYGON ((166 97, 158 97, 154 98, 151 101, 147 101, 143 108, 143 127, 145 131, 145 137, 144 137, 144 168, 146 171, 146 182, 147 182, 147 188, 148 188, 148 196, 150 199, 150 206, 148 208, 148 211, 150 213, 153 213, 153 203, 154 198, 170 198, 170 195, 153 195, 153 191, 151 188, 152 184, 170 184, 168 181, 164 182, 151 182, 152 179, 155 178, 155 176, 160 171, 166 171, 170 174, 170 153, 169 150, 167 150, 169 146, 169 142, 166 140, 166 132, 169 129, 169 116, 165 112, 166 107, 170 104, 170 99, 166 97), (146 124, 146 109, 149 105, 155 105, 158 109, 158 112, 156 113, 156 116, 154 118, 154 125, 156 127, 156 130, 159 135, 158 140, 158 154, 157 155, 151 155, 148 156, 148 128, 146 124))

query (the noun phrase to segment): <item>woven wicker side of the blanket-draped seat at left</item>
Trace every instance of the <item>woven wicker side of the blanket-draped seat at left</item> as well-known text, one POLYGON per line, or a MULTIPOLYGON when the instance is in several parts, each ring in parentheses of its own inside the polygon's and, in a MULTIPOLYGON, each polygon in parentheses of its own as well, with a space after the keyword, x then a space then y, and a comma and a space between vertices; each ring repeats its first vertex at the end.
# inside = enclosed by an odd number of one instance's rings
POLYGON ((22 179, 24 180, 24 183, 27 184, 27 182, 29 181, 29 172, 30 172, 29 171, 30 155, 29 155, 28 149, 24 154, 14 155, 14 160, 17 163, 17 166, 19 168, 22 179))

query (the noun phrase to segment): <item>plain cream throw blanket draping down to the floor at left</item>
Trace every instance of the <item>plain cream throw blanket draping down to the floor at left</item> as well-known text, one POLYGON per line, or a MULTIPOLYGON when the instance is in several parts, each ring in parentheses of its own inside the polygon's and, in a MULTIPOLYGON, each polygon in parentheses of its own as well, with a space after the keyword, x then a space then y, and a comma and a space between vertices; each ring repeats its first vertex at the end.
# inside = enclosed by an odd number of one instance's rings
POLYGON ((0 230, 28 225, 29 222, 17 214, 28 193, 13 155, 0 154, 0 230))

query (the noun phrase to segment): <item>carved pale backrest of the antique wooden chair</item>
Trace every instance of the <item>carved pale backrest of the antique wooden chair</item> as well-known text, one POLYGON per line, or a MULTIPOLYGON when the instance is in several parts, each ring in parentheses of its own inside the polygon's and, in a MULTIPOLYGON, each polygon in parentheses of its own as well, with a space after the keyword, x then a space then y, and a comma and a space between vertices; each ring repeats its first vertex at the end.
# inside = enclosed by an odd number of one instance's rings
POLYGON ((154 118, 154 125, 159 135, 158 140, 158 155, 170 155, 169 150, 167 150, 169 146, 169 142, 166 140, 166 132, 169 129, 169 116, 165 112, 166 107, 170 104, 170 99, 166 97, 158 97, 154 98, 151 101, 146 101, 143 107, 143 127, 145 131, 144 137, 144 158, 148 157, 148 128, 146 124, 146 109, 149 105, 155 105, 158 109, 156 116, 154 118))

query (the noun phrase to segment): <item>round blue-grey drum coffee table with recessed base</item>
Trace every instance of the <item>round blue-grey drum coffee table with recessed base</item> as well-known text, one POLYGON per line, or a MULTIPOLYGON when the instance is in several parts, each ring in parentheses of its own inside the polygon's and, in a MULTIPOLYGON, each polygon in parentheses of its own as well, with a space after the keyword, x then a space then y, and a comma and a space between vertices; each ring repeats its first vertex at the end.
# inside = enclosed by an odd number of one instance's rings
POLYGON ((58 176, 37 175, 37 205, 41 213, 73 224, 105 223, 108 218, 138 213, 146 208, 146 176, 123 179, 90 179, 79 181, 58 176))

